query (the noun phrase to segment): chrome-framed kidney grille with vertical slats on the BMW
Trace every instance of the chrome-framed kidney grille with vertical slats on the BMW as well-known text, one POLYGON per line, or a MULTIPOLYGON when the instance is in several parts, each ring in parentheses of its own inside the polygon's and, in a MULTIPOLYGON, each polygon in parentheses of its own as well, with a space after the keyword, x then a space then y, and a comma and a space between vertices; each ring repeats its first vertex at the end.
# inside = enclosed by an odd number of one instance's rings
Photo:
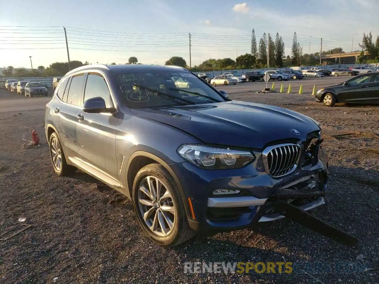
POLYGON ((273 177, 280 177, 296 169, 301 147, 298 144, 279 144, 267 147, 262 154, 266 172, 273 177))

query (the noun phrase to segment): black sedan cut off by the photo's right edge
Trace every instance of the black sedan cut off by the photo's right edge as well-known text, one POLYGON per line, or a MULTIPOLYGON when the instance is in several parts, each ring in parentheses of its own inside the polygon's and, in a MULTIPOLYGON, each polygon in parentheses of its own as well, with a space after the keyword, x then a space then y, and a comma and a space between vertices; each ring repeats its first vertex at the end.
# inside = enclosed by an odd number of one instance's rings
POLYGON ((326 106, 334 106, 335 103, 379 103, 379 72, 366 73, 319 89, 315 99, 326 106))

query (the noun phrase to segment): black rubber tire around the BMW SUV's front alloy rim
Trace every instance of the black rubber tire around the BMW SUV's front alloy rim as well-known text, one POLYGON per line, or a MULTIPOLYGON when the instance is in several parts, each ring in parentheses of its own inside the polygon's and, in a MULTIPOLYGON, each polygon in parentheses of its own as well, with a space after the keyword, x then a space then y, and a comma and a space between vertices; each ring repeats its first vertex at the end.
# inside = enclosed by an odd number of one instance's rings
POLYGON ((132 189, 133 207, 134 207, 139 224, 143 227, 144 232, 153 242, 158 243, 159 245, 164 245, 164 246, 171 246, 171 245, 176 244, 177 240, 180 237, 180 231, 183 228, 183 222, 187 222, 185 209, 184 209, 182 197, 180 196, 180 193, 179 193, 179 189, 177 185, 175 184, 175 181, 172 177, 171 177, 172 181, 169 181, 170 177, 171 175, 169 175, 169 173, 167 172, 166 169, 164 169, 163 166, 159 164, 150 164, 143 167, 141 170, 139 170, 139 172, 135 176, 135 179, 133 182, 133 189, 132 189), (174 221, 174 229, 168 236, 161 237, 154 234, 146 225, 141 215, 141 212, 139 210, 138 190, 139 190, 139 186, 141 182, 147 176, 155 176, 156 178, 160 179, 161 182, 164 184, 164 186, 168 188, 171 192, 172 203, 174 204, 174 207, 175 207, 175 221, 174 221))

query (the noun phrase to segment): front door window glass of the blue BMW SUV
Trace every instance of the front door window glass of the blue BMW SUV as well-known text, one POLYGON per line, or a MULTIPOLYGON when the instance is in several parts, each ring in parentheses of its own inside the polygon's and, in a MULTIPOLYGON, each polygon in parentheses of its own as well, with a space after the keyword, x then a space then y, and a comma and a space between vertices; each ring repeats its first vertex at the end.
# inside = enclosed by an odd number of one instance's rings
POLYGON ((103 98, 107 108, 113 107, 111 94, 104 78, 99 74, 90 73, 87 77, 86 89, 84 91, 84 101, 95 97, 103 98))

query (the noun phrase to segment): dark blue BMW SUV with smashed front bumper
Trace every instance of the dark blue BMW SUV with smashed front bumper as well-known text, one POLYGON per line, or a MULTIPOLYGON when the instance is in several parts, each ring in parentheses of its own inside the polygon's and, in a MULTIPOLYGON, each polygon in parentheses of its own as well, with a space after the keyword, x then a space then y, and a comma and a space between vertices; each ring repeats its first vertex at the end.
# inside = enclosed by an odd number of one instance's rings
POLYGON ((160 245, 283 217, 310 227, 306 211, 324 204, 317 121, 230 100, 182 67, 71 70, 46 105, 45 133, 56 174, 80 169, 126 195, 160 245))

